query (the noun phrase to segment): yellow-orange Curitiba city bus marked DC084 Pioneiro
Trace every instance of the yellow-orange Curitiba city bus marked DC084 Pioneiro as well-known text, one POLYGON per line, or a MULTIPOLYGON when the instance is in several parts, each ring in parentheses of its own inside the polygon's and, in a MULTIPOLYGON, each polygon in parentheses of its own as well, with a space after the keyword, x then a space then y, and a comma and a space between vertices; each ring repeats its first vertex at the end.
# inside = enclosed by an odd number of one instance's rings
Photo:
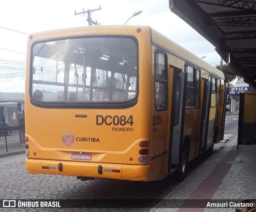
POLYGON ((28 36, 26 169, 161 180, 223 136, 224 74, 149 26, 28 36))

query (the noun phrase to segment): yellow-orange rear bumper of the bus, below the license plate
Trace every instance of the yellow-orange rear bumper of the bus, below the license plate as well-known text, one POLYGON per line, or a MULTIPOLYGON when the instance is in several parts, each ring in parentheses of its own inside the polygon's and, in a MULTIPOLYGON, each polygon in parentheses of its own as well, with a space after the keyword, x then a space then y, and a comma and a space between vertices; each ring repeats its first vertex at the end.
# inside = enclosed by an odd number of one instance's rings
POLYGON ((25 164, 27 172, 30 174, 58 174, 68 176, 111 178, 118 180, 149 181, 149 165, 36 160, 29 158, 26 158, 25 164), (102 170, 102 173, 100 170, 102 170))

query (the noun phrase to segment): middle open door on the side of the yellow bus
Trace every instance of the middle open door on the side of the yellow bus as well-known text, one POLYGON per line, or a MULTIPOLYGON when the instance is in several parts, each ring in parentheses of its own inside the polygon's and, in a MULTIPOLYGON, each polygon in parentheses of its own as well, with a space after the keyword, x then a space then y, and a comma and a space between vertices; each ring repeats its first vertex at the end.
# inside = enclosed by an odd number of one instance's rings
POLYGON ((208 120, 210 114, 210 88, 211 82, 204 80, 204 95, 203 95, 203 106, 202 106, 202 122, 201 122, 201 138, 200 138, 200 149, 201 151, 206 150, 207 135, 208 135, 208 120))

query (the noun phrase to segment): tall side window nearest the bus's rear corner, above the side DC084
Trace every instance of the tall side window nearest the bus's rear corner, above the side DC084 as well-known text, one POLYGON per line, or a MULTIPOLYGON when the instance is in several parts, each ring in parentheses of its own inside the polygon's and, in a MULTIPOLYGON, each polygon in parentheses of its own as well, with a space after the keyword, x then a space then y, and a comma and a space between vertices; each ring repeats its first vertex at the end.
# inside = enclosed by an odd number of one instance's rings
POLYGON ((168 107, 167 57, 156 52, 155 56, 155 105, 157 110, 168 107))

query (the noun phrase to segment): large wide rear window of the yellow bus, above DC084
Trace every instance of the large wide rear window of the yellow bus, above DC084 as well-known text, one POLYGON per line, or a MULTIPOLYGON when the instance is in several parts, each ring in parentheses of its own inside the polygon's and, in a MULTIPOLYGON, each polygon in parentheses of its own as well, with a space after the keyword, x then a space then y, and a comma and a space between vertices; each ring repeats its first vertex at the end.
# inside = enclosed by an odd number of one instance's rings
POLYGON ((128 102, 138 94, 138 50, 132 38, 89 37, 32 47, 30 96, 55 104, 128 102))

